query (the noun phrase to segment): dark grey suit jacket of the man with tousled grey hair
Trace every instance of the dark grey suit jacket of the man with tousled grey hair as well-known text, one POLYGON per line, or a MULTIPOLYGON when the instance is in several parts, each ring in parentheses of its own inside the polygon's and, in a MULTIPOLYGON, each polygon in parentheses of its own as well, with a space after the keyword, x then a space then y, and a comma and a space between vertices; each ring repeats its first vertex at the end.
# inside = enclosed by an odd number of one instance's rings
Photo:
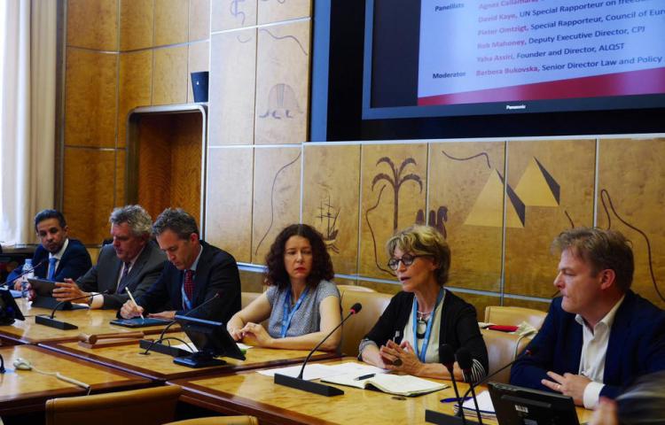
MULTIPOLYGON (((150 241, 145 244, 145 248, 138 256, 137 262, 134 263, 125 278, 127 288, 135 298, 142 296, 146 290, 153 286, 153 283, 160 277, 165 262, 166 255, 160 251, 156 243, 150 241)), ((120 294, 115 293, 121 269, 122 261, 115 255, 113 245, 104 245, 102 250, 99 251, 97 265, 90 268, 88 273, 83 275, 76 283, 86 292, 108 290, 108 293, 104 294, 102 308, 118 309, 129 299, 126 290, 122 290, 120 294)))

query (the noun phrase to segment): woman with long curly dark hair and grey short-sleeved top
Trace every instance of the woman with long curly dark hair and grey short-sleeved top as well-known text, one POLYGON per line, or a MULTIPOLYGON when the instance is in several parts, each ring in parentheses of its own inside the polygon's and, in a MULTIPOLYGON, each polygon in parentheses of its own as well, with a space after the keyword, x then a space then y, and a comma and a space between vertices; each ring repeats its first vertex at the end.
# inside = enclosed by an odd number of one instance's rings
MULTIPOLYGON (((330 282, 332 260, 321 234, 306 224, 282 230, 266 255, 266 282, 259 298, 231 317, 236 341, 262 347, 310 350, 340 324, 340 291, 330 282), (269 319, 268 329, 260 324, 269 319)), ((334 351, 338 329, 320 349, 334 351)))

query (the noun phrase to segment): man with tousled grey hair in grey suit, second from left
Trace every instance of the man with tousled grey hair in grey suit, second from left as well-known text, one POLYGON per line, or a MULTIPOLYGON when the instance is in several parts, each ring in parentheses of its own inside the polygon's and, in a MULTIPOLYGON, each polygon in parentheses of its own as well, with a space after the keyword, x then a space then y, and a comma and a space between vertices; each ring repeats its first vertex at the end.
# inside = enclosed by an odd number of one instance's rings
POLYGON ((105 292, 82 302, 90 308, 119 309, 128 299, 142 296, 160 277, 166 256, 151 240, 153 220, 140 205, 115 208, 111 217, 113 243, 99 251, 97 265, 76 282, 57 282, 53 297, 69 301, 105 292))

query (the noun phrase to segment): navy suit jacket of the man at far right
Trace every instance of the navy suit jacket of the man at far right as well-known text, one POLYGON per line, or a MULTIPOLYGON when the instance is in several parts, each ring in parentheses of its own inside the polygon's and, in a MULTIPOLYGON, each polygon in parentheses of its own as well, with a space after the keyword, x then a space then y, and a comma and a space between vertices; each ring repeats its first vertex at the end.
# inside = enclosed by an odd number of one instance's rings
MULTIPOLYGON (((582 356, 582 326, 575 314, 554 299, 543 328, 528 344, 534 354, 518 360, 511 370, 511 383, 536 390, 549 390, 541 379, 552 370, 559 375, 578 374, 582 356)), ((629 290, 616 311, 610 330, 601 396, 615 398, 622 387, 640 375, 665 369, 665 312, 629 290)))

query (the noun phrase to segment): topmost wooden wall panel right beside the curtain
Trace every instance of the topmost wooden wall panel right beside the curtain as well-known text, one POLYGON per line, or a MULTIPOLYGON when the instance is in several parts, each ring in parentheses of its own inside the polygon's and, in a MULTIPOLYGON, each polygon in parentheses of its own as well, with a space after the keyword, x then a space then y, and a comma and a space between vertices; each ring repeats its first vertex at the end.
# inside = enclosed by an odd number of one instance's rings
POLYGON ((118 50, 119 0, 68 0, 67 46, 118 50))

